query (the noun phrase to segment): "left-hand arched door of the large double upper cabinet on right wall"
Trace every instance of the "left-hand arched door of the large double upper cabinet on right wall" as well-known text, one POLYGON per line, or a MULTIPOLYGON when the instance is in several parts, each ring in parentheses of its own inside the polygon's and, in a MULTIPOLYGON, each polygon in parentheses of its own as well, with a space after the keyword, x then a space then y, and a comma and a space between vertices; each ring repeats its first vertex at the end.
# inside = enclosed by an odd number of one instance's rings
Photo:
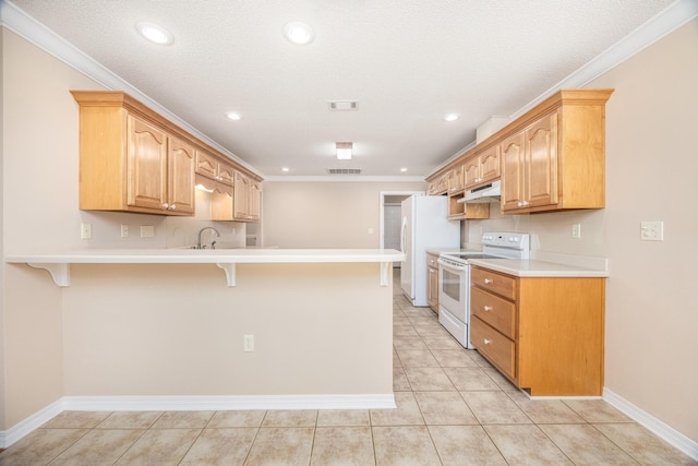
POLYGON ((507 138, 501 144, 502 162, 502 210, 515 211, 524 206, 525 134, 507 138))

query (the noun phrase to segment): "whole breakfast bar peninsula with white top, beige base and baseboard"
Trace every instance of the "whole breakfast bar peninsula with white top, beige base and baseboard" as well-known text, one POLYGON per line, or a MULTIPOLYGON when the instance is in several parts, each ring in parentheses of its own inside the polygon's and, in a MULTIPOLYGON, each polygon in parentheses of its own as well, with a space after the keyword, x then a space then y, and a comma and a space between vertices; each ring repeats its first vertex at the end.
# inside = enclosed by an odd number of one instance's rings
POLYGON ((93 410, 394 407, 401 260, 382 249, 5 256, 60 289, 63 399, 93 410))

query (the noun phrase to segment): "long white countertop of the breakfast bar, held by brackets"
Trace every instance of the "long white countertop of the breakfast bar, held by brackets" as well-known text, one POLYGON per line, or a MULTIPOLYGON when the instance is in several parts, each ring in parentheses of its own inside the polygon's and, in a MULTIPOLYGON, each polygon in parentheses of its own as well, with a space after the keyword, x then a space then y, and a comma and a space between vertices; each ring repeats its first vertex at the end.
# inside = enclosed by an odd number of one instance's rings
POLYGON ((394 249, 81 249, 9 254, 10 263, 69 264, 215 264, 399 262, 394 249))

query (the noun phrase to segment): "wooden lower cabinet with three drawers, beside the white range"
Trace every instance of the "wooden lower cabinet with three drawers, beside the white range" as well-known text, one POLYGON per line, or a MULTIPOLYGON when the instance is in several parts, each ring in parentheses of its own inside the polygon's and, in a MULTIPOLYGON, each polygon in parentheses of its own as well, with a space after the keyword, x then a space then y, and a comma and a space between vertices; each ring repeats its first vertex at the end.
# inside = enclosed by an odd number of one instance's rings
POLYGON ((473 266, 470 339, 532 396, 599 396, 604 296, 604 278, 514 277, 473 266))

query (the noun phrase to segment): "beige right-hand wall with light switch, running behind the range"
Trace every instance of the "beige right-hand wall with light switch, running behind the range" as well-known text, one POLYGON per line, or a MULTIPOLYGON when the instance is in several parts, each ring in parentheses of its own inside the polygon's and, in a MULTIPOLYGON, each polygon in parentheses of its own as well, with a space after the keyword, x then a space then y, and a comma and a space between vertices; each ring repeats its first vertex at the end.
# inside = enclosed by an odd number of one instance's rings
POLYGON ((606 208, 468 222, 535 236, 541 251, 609 258, 605 387, 698 441, 698 20, 609 71, 606 208), (671 165, 671 170, 662 167, 671 165), (663 220, 664 241, 640 241, 663 220), (581 224, 581 239, 571 224, 581 224))

